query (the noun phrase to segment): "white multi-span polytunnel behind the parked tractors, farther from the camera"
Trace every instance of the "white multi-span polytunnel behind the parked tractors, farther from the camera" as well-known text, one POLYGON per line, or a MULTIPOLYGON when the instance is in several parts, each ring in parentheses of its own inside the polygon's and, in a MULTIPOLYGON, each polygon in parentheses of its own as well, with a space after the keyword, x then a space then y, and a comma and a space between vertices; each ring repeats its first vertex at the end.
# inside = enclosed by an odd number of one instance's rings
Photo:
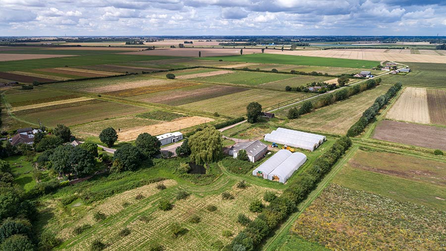
POLYGON ((278 128, 265 135, 265 141, 314 151, 326 140, 325 136, 278 128))

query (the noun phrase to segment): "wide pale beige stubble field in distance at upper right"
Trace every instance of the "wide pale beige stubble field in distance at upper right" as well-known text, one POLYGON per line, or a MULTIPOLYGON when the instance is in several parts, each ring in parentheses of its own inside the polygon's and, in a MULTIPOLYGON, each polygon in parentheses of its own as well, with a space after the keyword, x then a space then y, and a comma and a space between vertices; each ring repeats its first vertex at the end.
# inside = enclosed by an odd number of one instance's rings
MULTIPOLYGON (((366 50, 366 49, 365 49, 366 50)), ((360 59, 360 60, 372 60, 377 61, 378 65, 380 61, 396 61, 396 62, 422 62, 422 63, 446 63, 446 56, 441 55, 420 55, 420 54, 403 54, 403 53, 391 53, 391 52, 375 52, 375 51, 357 51, 350 49, 343 50, 272 50, 268 53, 280 54, 280 55, 299 55, 299 56, 312 56, 312 57, 325 57, 325 58, 345 58, 345 59, 360 59)))

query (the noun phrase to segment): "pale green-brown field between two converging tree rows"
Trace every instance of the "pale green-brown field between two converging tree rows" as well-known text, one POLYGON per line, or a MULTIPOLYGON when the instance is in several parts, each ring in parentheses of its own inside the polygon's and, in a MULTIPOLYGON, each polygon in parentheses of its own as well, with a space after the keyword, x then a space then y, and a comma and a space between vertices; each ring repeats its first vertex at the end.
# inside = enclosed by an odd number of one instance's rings
POLYGON ((379 85, 374 89, 351 96, 347 100, 325 106, 314 112, 291 120, 287 126, 311 131, 344 135, 375 99, 387 92, 388 85, 379 85))

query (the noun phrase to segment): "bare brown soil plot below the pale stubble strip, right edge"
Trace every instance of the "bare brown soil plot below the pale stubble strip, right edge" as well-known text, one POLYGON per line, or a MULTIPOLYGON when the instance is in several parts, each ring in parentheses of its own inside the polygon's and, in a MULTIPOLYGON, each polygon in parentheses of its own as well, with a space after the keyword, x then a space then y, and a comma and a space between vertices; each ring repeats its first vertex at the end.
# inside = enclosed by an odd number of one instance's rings
POLYGON ((378 122, 374 139, 446 151, 446 128, 391 120, 378 122))

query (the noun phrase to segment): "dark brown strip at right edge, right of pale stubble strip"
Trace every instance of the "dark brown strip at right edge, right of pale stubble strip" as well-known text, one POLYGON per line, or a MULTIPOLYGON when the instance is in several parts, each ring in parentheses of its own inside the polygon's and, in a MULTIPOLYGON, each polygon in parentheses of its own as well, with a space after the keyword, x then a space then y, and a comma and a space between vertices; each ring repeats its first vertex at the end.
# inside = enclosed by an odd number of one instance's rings
POLYGON ((431 123, 446 125, 446 90, 427 89, 431 123))

